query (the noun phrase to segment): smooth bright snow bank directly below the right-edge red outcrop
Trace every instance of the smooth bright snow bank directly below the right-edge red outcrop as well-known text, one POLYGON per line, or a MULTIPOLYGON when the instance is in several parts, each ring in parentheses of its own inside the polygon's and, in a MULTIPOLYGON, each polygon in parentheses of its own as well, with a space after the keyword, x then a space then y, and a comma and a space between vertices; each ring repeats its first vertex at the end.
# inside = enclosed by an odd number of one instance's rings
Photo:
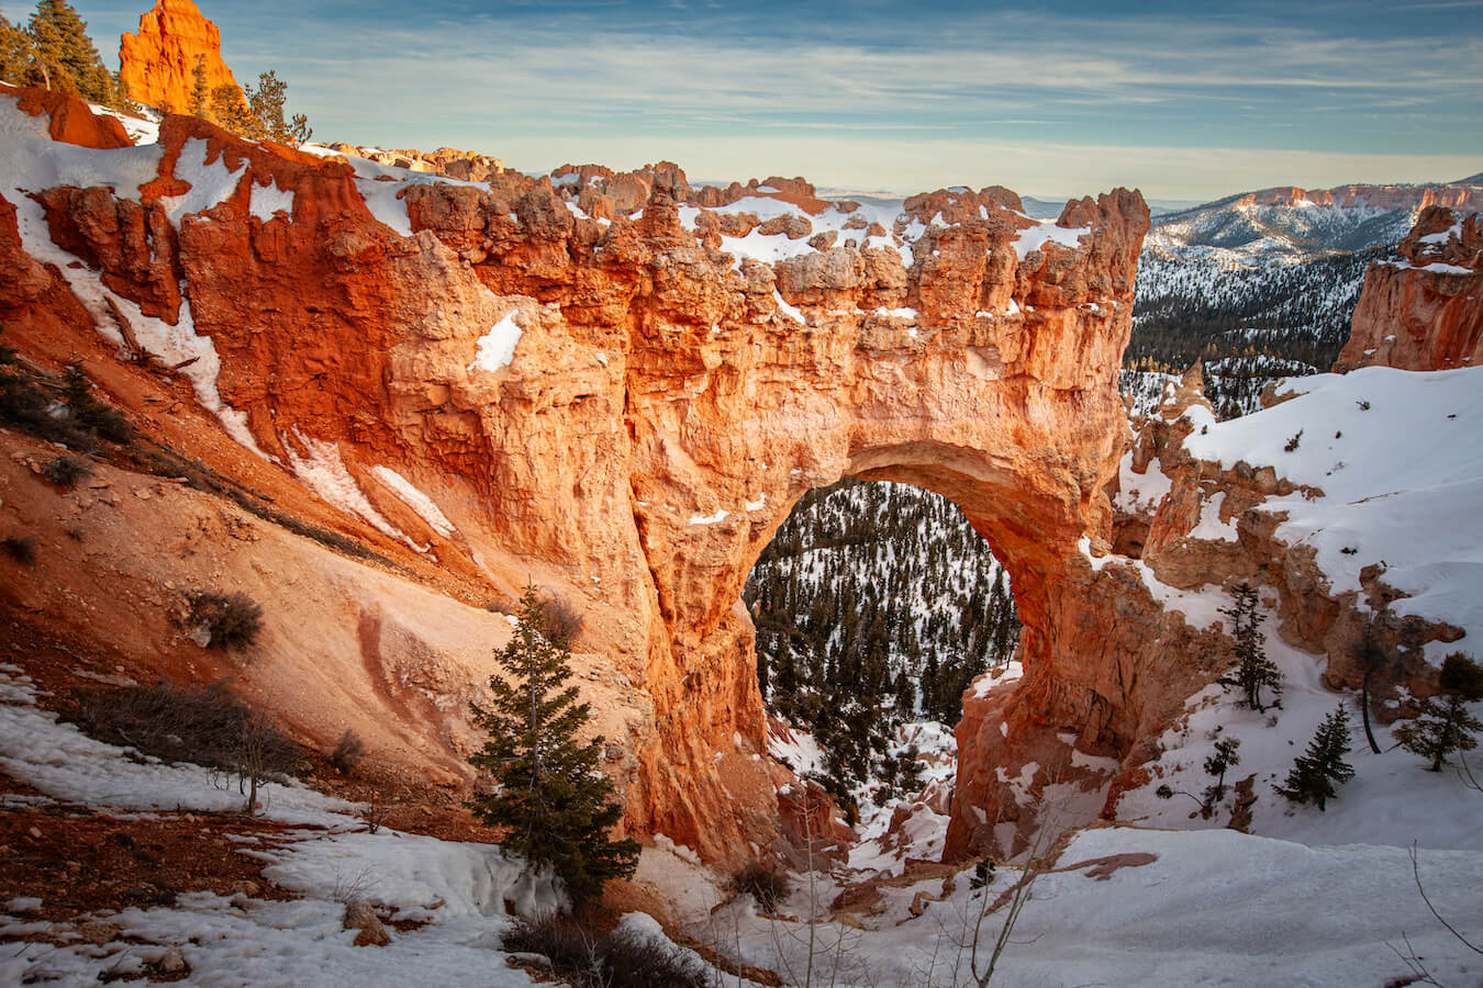
MULTIPOLYGON (((1410 372, 1364 367, 1286 382, 1299 397, 1195 431, 1185 447, 1234 467, 1272 465, 1323 496, 1269 499, 1277 535, 1312 545, 1333 593, 1360 590, 1360 570, 1409 594, 1398 615, 1446 621, 1461 644, 1434 641, 1440 662, 1483 638, 1483 367, 1410 372), (1293 449, 1287 449, 1293 446, 1293 449)), ((1366 606, 1361 601, 1361 606, 1366 606)))

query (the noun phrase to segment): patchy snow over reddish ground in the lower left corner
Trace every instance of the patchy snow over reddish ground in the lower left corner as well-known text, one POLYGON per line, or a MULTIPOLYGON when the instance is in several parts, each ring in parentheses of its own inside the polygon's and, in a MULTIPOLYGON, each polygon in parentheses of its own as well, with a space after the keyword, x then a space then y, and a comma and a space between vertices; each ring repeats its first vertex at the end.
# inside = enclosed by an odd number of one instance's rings
MULTIPOLYGON (((234 781, 90 741, 39 710, 36 696, 16 667, 0 667, 0 770, 49 800, 141 819, 242 807, 234 781)), ((96 984, 105 970, 141 972, 171 947, 190 964, 193 985, 531 984, 504 966, 497 948, 510 923, 506 899, 526 914, 559 902, 547 877, 494 846, 386 828, 371 834, 353 815, 359 807, 297 785, 268 785, 261 801, 264 816, 313 828, 289 830, 276 847, 243 840, 240 853, 271 861, 264 877, 303 898, 187 893, 172 907, 96 917, 142 941, 102 947, 30 918, 39 902, 0 904, 0 938, 47 933, 64 941, 7 945, 0 951, 0 984, 96 984), (393 935, 384 948, 353 947, 356 932, 343 929, 351 895, 429 926, 393 935)))

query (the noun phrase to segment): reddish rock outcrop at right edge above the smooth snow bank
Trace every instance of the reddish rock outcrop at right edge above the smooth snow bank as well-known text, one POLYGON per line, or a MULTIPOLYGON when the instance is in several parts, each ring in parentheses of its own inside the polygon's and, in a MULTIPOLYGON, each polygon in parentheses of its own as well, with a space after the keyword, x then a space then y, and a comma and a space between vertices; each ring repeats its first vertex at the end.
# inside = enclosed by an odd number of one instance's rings
POLYGON ((1354 330, 1333 369, 1446 370, 1480 363, 1483 215, 1431 206, 1400 243, 1398 256, 1364 273, 1354 330))

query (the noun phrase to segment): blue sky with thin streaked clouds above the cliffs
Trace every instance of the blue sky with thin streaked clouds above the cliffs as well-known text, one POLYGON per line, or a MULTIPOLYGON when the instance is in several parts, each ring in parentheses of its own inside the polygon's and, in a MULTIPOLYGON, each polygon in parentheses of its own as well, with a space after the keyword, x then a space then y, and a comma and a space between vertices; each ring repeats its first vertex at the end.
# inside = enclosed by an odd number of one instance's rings
MULTIPOLYGON (((105 61, 151 0, 74 6, 105 61)), ((1483 0, 202 0, 316 139, 1154 200, 1483 172, 1483 0)), ((12 21, 31 6, 3 3, 12 21)))

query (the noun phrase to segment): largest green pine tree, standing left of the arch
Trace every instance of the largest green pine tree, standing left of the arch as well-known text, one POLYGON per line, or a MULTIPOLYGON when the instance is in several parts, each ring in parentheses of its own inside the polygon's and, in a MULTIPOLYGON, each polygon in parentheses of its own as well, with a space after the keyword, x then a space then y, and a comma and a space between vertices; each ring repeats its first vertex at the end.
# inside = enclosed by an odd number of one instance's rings
POLYGON ((639 844, 608 840, 623 809, 608 801, 612 782, 598 772, 604 739, 577 741, 592 712, 577 702, 577 687, 567 686, 571 650, 558 624, 535 588, 526 587, 515 635, 494 653, 510 678, 489 678, 488 710, 470 705, 489 741, 469 761, 489 772, 498 788, 467 806, 483 822, 506 828, 504 847, 550 865, 572 905, 581 907, 608 878, 633 874, 639 844))

